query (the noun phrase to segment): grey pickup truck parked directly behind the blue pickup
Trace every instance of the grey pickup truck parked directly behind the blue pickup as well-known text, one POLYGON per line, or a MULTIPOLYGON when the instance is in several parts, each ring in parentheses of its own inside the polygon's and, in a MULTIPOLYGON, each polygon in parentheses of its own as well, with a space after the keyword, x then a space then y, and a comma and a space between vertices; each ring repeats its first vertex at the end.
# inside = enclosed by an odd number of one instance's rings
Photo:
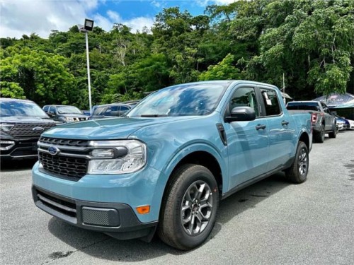
POLYGON ((314 129, 314 141, 324 142, 324 134, 329 138, 336 138, 336 116, 331 113, 329 107, 320 101, 291 101, 287 102, 287 110, 292 112, 308 112, 312 114, 312 127, 314 129))

